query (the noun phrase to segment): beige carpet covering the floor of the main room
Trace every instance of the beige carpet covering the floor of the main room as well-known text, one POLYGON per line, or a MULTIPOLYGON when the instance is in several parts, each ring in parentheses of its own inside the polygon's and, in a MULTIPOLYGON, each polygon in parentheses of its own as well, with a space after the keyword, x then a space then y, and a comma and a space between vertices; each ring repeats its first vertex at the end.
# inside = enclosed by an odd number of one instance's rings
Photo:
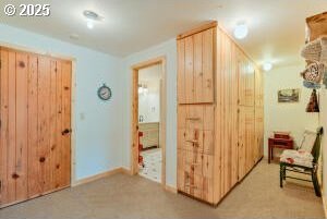
POLYGON ((277 165, 262 161, 217 208, 117 174, 0 210, 1 219, 324 218, 313 188, 279 187, 277 165))

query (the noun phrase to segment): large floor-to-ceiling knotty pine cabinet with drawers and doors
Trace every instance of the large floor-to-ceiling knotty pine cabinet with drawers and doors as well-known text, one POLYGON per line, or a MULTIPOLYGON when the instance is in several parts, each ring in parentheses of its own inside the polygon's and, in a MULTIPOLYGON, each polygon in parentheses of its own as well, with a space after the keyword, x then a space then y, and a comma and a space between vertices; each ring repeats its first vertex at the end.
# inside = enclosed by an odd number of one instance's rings
POLYGON ((217 22, 177 46, 178 191, 216 205, 262 158, 262 74, 217 22))

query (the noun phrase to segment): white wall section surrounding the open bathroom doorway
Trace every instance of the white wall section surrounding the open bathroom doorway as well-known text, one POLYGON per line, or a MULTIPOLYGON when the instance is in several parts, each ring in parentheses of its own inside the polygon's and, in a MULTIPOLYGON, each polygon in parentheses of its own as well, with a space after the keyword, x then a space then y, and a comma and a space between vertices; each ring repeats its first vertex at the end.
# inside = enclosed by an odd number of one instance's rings
POLYGON ((131 110, 132 110, 132 71, 133 64, 166 57, 166 81, 167 81, 167 130, 166 130, 166 183, 175 187, 177 185, 177 45, 175 39, 168 40, 147 50, 131 54, 124 59, 123 72, 123 167, 130 169, 131 163, 131 110))

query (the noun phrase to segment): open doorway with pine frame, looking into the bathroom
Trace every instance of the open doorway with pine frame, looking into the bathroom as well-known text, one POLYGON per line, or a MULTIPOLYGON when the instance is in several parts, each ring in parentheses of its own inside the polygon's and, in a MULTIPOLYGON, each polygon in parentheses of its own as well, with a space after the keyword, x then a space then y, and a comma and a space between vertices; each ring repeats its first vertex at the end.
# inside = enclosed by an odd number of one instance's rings
POLYGON ((166 184, 166 59, 133 66, 132 173, 166 184))

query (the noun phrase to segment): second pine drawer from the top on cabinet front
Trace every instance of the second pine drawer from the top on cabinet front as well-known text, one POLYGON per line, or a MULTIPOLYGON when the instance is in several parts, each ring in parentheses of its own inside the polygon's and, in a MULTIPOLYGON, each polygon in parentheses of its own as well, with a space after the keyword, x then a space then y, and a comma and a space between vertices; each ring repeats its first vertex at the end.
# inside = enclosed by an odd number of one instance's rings
POLYGON ((203 131, 196 129, 179 130, 178 148, 213 155, 214 131, 203 131))

